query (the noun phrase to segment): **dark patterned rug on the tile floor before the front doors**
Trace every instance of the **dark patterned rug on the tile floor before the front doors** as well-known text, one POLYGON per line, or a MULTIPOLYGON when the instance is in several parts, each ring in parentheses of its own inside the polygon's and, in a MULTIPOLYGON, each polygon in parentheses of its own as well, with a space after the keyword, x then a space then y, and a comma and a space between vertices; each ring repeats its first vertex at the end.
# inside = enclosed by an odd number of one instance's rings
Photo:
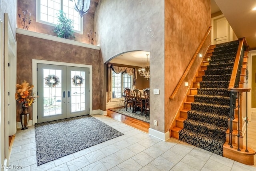
POLYGON ((90 115, 36 123, 37 165, 120 135, 124 134, 90 115))

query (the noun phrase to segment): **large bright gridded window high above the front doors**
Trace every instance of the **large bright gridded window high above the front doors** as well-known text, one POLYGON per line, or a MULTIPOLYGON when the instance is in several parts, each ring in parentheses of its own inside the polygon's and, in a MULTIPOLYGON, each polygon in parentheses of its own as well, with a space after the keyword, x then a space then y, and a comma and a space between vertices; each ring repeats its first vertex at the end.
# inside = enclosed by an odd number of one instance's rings
POLYGON ((73 0, 37 0, 36 3, 37 22, 56 26, 58 24, 57 13, 63 10, 66 16, 74 21, 74 32, 83 34, 83 20, 74 10, 73 0))

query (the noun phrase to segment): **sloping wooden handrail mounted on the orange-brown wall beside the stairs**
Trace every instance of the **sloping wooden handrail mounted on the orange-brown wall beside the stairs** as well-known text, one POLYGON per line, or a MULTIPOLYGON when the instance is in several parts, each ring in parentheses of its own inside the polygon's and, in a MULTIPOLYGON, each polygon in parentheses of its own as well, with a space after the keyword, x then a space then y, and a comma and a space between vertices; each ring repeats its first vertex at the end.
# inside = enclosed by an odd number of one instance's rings
MULTIPOLYGON (((180 82, 177 84, 176 88, 174 89, 174 91, 172 92, 172 95, 170 95, 170 99, 174 99, 174 97, 176 96, 176 94, 178 93, 178 90, 180 89, 180 86, 182 85, 182 82, 184 81, 184 79, 186 78, 186 76, 188 75, 188 72, 190 70, 190 68, 192 67, 192 65, 194 64, 195 60, 196 60, 196 56, 198 55, 200 49, 202 48, 207 36, 210 34, 210 31, 212 29, 212 26, 210 26, 202 40, 202 42, 200 43, 199 47, 196 50, 196 53, 194 54, 193 58, 191 59, 190 63, 188 64, 188 67, 186 69, 186 71, 184 72, 182 78, 180 79, 180 82)), ((202 58, 203 59, 203 58, 202 58)))

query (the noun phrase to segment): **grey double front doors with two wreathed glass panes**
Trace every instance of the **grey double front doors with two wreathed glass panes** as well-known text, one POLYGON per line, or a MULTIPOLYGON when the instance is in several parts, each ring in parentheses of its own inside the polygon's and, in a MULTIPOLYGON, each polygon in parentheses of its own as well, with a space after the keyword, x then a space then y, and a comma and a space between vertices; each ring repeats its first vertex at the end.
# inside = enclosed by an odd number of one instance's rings
POLYGON ((37 68, 38 123, 89 114, 89 68, 37 68))

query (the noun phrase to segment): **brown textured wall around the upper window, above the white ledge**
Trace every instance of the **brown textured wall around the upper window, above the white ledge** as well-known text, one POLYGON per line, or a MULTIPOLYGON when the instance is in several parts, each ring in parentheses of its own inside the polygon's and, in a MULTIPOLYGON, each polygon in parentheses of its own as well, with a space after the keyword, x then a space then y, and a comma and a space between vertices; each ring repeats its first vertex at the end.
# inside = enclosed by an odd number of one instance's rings
MULTIPOLYGON (((91 4, 91 6, 94 6, 93 7, 94 9, 96 5, 95 3, 96 2, 92 1, 92 4, 91 4)), ((56 33, 54 33, 54 28, 55 28, 54 26, 36 22, 36 0, 18 0, 18 9, 17 9, 18 14, 22 14, 22 11, 24 10, 28 10, 28 12, 31 12, 30 19, 32 20, 32 22, 28 30, 32 32, 38 32, 38 33, 49 34, 52 36, 57 36, 56 33)), ((18 14, 17 14, 17 27, 23 28, 20 23, 20 18, 18 17, 18 14)), ((83 22, 84 22, 83 34, 74 33, 75 38, 69 38, 69 39, 89 44, 87 33, 90 32, 90 30, 94 31, 94 14, 90 12, 85 14, 83 16, 83 22)), ((94 44, 96 45, 97 42, 95 41, 94 44)))

